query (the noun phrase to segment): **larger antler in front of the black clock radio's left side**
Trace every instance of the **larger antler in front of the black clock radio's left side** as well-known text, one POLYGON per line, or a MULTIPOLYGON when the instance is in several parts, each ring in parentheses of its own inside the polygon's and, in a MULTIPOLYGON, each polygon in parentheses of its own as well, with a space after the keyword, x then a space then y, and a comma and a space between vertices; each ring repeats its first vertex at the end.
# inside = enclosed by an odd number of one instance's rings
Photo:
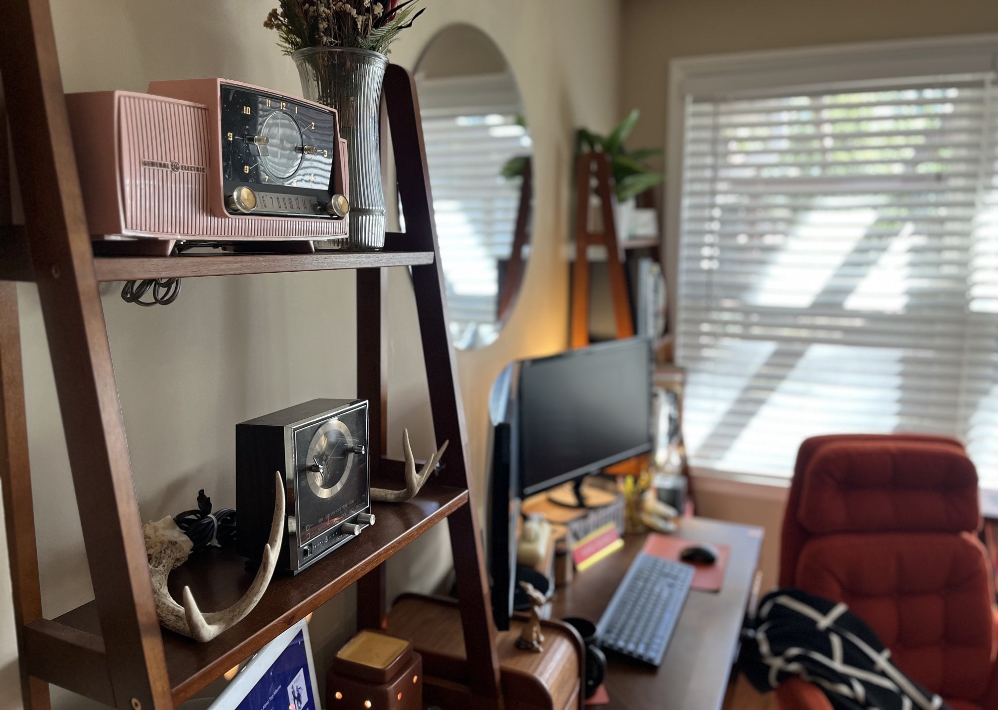
POLYGON ((160 623, 171 631, 201 641, 211 641, 220 633, 239 623, 256 605, 266 585, 270 583, 277 563, 277 548, 284 534, 284 484, 280 472, 274 476, 273 521, 270 538, 263 547, 263 558, 247 593, 239 601, 222 611, 202 613, 194 600, 191 588, 184 587, 184 606, 170 595, 167 579, 170 572, 180 566, 191 554, 191 539, 177 527, 171 518, 145 526, 146 548, 149 551, 149 573, 153 579, 156 598, 156 615, 160 623))

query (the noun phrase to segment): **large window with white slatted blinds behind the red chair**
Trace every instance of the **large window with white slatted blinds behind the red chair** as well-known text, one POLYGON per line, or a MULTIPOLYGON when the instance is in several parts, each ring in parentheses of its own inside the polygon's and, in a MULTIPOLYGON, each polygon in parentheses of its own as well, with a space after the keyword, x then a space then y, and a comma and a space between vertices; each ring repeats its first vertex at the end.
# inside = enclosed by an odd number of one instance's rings
POLYGON ((990 76, 687 104, 678 361, 694 466, 806 437, 963 440, 998 489, 990 76))

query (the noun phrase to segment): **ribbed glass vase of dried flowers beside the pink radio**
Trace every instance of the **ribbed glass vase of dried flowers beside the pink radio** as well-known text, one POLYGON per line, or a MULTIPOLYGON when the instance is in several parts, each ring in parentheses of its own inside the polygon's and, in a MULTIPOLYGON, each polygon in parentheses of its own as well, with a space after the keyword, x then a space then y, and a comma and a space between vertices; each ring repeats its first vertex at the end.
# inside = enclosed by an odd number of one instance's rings
POLYGON ((298 69, 305 99, 336 109, 347 145, 350 235, 345 248, 384 246, 379 119, 385 56, 422 10, 418 0, 280 0, 263 23, 298 69))

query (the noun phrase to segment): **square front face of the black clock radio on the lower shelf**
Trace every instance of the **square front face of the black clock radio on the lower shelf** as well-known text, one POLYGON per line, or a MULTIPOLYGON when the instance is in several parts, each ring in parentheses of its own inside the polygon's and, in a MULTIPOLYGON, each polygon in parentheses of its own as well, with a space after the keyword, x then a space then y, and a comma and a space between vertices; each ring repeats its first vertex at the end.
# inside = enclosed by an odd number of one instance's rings
POLYGON ((298 544, 367 508, 366 410, 357 408, 294 434, 298 544))

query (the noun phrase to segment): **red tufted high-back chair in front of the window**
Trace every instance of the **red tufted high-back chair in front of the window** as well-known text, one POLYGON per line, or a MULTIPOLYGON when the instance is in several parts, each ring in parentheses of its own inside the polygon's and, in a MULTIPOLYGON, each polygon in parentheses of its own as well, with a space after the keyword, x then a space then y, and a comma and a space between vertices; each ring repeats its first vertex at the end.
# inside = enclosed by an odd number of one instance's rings
MULTIPOLYGON (((977 472, 952 439, 833 436, 797 454, 780 586, 844 601, 902 671, 953 710, 998 710, 990 563, 974 535, 977 472)), ((781 710, 830 710, 799 679, 781 710)))

